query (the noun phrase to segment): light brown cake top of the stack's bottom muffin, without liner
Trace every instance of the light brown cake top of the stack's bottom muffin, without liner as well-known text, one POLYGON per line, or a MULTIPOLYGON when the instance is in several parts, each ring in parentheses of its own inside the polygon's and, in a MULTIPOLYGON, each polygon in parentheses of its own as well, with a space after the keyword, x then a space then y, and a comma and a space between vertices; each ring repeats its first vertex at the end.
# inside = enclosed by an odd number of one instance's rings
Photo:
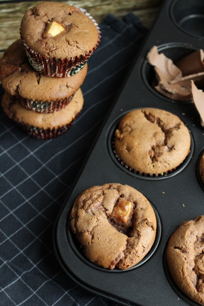
POLYGON ((16 121, 42 129, 53 129, 69 124, 83 107, 83 95, 79 88, 71 102, 55 113, 40 114, 27 110, 15 96, 5 93, 2 97, 2 107, 6 115, 16 121))

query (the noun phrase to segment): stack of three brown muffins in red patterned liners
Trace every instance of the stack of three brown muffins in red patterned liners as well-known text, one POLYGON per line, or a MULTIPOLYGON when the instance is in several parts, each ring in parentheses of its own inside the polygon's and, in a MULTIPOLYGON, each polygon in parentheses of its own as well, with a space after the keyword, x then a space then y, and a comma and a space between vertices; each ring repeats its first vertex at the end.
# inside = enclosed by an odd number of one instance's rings
POLYGON ((80 86, 100 37, 98 24, 83 9, 58 2, 29 9, 20 38, 0 60, 6 115, 37 139, 65 133, 82 110, 80 86))

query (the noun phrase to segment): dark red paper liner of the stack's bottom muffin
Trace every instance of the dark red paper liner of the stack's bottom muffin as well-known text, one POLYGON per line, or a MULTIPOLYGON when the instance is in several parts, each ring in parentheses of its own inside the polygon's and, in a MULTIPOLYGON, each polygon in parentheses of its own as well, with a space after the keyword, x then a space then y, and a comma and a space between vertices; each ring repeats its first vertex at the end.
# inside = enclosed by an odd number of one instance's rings
POLYGON ((40 129, 38 127, 34 127, 34 126, 30 126, 30 125, 26 125, 23 123, 19 123, 20 127, 29 135, 32 136, 36 139, 40 139, 40 140, 48 140, 48 139, 52 139, 52 138, 56 138, 58 136, 61 136, 62 134, 66 133, 70 127, 73 125, 74 121, 76 120, 76 118, 78 117, 78 115, 80 114, 80 112, 78 114, 76 114, 75 118, 68 123, 67 125, 58 127, 58 128, 53 128, 53 129, 40 129))

